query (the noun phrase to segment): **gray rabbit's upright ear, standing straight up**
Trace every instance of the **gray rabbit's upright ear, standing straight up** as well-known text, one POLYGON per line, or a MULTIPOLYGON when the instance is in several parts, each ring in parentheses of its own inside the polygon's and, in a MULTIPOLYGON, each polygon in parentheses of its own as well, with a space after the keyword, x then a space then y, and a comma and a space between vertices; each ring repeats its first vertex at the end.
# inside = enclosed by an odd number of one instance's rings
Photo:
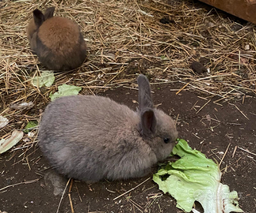
POLYGON ((147 77, 139 75, 137 81, 139 85, 139 110, 142 111, 145 108, 153 108, 151 87, 147 77))

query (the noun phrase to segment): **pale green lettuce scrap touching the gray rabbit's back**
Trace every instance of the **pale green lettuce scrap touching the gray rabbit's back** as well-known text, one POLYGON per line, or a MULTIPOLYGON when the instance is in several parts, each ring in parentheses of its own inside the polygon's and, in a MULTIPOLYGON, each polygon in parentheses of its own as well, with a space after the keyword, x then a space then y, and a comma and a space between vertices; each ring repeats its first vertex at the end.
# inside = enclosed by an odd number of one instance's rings
POLYGON ((52 101, 62 96, 78 95, 78 92, 80 92, 82 88, 73 85, 63 84, 58 87, 58 90, 59 92, 55 92, 54 94, 50 95, 52 101))

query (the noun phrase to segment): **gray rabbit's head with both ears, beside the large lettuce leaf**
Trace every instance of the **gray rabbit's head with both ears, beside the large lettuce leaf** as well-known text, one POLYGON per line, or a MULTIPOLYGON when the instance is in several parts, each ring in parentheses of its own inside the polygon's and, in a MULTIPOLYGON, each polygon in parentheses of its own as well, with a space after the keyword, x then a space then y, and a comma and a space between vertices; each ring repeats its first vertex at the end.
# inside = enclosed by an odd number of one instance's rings
POLYGON ((147 77, 139 75, 139 130, 159 161, 166 159, 174 147, 178 132, 175 122, 162 110, 155 109, 147 77))

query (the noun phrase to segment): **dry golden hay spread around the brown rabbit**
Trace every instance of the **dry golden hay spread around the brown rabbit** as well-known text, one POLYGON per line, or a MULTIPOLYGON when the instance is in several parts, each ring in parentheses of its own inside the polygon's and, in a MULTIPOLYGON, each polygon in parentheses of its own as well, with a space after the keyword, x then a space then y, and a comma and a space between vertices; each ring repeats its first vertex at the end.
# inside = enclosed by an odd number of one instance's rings
MULTIPOLYGON (((10 119, 0 136, 39 120, 48 95, 60 84, 81 86, 82 94, 97 94, 118 86, 136 88, 138 73, 144 73, 152 84, 174 83, 177 90, 187 84, 185 89, 226 101, 256 92, 253 24, 193 1, 38 2, 0 2, 0 115, 10 119), (56 7, 55 15, 79 24, 89 54, 82 67, 56 73, 52 87, 39 89, 30 80, 45 68, 29 49, 25 27, 33 9, 48 6, 56 7), (194 60, 210 72, 194 73, 190 69, 194 60), (10 109, 11 103, 29 101, 35 104, 31 110, 10 109)), ((30 147, 35 138, 26 138, 21 146, 30 147)))

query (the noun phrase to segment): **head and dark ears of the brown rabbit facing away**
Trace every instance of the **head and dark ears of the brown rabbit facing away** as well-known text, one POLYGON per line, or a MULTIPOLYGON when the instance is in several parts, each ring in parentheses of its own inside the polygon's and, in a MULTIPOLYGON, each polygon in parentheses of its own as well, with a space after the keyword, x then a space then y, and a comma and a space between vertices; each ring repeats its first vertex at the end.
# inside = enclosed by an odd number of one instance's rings
POLYGON ((38 28, 40 28, 40 25, 43 24, 44 21, 47 19, 53 17, 55 7, 49 7, 45 10, 45 13, 43 14, 39 9, 35 9, 33 13, 32 19, 29 21, 29 24, 27 26, 27 37, 29 41, 31 41, 33 34, 37 31, 38 28))

